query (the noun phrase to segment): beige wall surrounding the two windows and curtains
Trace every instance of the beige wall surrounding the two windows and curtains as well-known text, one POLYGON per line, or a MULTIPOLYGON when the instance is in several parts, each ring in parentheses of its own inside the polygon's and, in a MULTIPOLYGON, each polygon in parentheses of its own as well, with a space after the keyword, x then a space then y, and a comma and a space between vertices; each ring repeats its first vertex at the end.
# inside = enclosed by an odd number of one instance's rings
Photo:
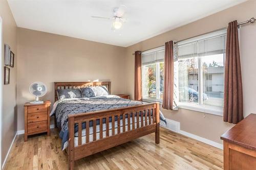
MULTIPOLYGON (((228 22, 232 20, 238 20, 238 22, 248 20, 251 17, 256 17, 255 9, 256 1, 251 0, 127 47, 125 60, 127 93, 131 94, 132 98, 134 97, 134 56, 132 54, 135 51, 145 51, 150 48, 164 45, 164 42, 169 40, 178 41, 221 29, 227 27, 228 22)), ((256 79, 253 74, 256 71, 256 23, 253 25, 242 26, 240 42, 244 91, 244 115, 247 116, 250 113, 256 113, 256 79)), ((162 111, 166 118, 180 122, 181 130, 219 143, 222 143, 220 140, 221 134, 233 126, 224 123, 222 121, 222 116, 204 114, 185 109, 179 109, 179 111, 162 109, 162 111)))

